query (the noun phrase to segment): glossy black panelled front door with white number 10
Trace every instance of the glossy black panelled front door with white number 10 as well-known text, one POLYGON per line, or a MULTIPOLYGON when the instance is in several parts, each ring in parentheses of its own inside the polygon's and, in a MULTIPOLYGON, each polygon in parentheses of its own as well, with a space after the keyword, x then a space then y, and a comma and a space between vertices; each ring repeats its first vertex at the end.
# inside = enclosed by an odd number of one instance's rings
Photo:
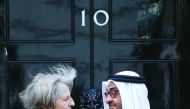
POLYGON ((151 109, 181 109, 178 0, 1 4, 2 109, 23 108, 18 93, 36 71, 57 63, 78 70, 72 93, 76 109, 103 108, 101 82, 122 70, 146 78, 151 109), (96 105, 90 98, 81 101, 90 89, 96 89, 96 105))

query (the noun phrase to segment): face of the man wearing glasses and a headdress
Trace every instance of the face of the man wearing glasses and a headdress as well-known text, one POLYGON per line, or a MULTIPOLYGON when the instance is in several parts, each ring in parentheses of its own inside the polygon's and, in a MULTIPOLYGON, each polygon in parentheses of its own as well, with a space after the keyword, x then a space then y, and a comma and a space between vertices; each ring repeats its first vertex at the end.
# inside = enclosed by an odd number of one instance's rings
POLYGON ((106 103, 109 105, 110 109, 122 109, 121 96, 119 90, 114 82, 110 82, 107 87, 107 97, 106 103))

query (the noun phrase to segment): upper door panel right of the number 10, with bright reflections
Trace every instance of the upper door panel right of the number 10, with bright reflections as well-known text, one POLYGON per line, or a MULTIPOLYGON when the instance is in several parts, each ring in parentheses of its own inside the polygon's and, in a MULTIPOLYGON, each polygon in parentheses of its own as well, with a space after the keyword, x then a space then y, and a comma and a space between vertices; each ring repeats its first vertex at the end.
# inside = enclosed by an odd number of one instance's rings
POLYGON ((176 39, 176 0, 110 0, 112 41, 176 39))

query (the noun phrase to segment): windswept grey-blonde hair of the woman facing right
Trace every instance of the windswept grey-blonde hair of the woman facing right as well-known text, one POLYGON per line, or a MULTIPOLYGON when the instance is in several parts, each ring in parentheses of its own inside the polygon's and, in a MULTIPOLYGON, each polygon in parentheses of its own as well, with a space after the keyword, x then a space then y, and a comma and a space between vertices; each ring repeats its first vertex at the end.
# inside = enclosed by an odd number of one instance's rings
POLYGON ((32 82, 19 93, 20 100, 26 109, 41 109, 54 107, 56 98, 66 87, 70 91, 76 69, 58 64, 50 67, 49 72, 38 73, 32 82))

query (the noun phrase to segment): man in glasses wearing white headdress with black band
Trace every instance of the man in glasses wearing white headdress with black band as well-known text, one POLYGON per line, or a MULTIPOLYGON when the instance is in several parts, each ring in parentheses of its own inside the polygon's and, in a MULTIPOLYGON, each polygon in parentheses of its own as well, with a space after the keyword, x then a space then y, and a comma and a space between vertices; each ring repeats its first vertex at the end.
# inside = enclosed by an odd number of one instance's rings
POLYGON ((150 109, 144 78, 122 71, 102 82, 104 109, 150 109))

